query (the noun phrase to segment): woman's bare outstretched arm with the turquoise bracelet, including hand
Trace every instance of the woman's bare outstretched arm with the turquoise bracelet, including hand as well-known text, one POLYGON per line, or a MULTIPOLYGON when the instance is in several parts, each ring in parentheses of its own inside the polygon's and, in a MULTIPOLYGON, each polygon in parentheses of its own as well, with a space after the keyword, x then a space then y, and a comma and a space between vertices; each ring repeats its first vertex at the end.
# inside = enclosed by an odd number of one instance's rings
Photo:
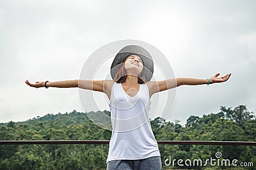
MULTIPOLYGON (((221 83, 224 81, 227 81, 228 78, 230 78, 231 73, 222 76, 218 78, 220 73, 215 74, 210 80, 210 84, 212 83, 221 83)), ((161 81, 148 81, 148 89, 150 92, 150 97, 157 92, 161 92, 163 90, 173 89, 175 87, 179 87, 180 85, 202 85, 202 84, 208 84, 209 81, 205 79, 199 79, 199 78, 172 78, 168 80, 161 80, 161 81)))

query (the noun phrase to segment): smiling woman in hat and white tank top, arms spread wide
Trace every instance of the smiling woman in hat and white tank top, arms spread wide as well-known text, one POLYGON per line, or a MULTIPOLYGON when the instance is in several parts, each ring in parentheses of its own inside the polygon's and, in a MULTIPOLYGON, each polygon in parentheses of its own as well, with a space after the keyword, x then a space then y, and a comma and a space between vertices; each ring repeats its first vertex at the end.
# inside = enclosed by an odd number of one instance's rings
POLYGON ((148 118, 150 97, 180 85, 202 85, 227 81, 231 74, 218 78, 173 78, 150 81, 154 62, 150 53, 138 45, 122 48, 111 65, 113 80, 36 81, 31 87, 79 87, 104 92, 109 98, 112 136, 107 169, 162 169, 161 157, 148 118))

